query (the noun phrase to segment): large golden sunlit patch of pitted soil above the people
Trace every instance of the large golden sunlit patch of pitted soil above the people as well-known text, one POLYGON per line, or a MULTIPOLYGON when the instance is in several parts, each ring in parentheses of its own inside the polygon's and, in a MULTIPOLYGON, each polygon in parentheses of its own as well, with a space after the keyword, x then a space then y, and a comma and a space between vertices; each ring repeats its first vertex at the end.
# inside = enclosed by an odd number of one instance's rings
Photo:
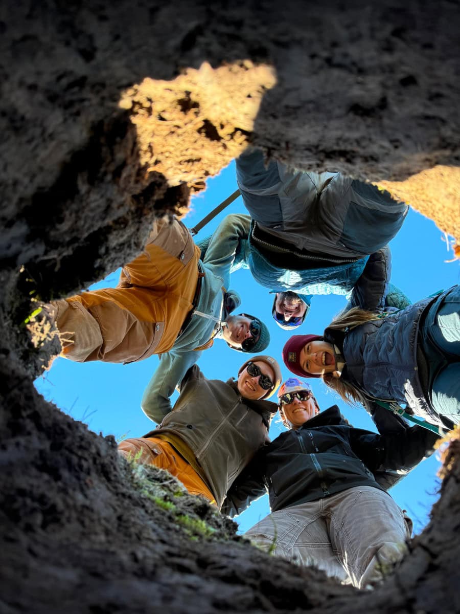
POLYGON ((140 164, 171 185, 204 188, 247 146, 274 69, 244 60, 213 69, 186 69, 172 81, 144 79, 123 93, 120 107, 137 128, 140 164))

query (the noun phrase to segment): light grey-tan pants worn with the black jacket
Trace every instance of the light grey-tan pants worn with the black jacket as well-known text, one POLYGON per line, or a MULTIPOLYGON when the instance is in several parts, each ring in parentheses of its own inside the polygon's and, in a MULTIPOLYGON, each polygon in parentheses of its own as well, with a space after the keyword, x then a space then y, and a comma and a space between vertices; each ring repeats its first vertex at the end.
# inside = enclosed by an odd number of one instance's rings
POLYGON ((373 486, 356 486, 275 511, 245 537, 276 556, 366 588, 402 558, 409 527, 389 494, 373 486))

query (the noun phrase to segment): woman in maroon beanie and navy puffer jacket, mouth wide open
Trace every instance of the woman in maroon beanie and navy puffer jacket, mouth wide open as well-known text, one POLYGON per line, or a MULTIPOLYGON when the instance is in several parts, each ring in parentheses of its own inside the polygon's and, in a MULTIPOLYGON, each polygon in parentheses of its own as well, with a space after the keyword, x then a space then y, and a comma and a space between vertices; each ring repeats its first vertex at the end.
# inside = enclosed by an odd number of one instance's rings
POLYGON ((323 335, 291 336, 283 360, 371 415, 379 402, 405 404, 452 429, 460 424, 460 286, 394 313, 350 309, 323 335))

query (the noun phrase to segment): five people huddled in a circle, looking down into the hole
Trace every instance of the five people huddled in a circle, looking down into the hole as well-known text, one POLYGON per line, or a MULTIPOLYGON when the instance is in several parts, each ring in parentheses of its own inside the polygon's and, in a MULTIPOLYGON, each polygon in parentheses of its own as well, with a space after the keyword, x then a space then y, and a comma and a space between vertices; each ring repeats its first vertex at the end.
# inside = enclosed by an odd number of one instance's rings
POLYGON ((156 220, 116 288, 47 310, 71 360, 159 354, 141 403, 158 426, 121 441, 121 456, 166 469, 229 516, 268 492, 272 513, 247 532, 253 542, 365 588, 401 559, 410 537, 388 489, 460 422, 460 287, 411 305, 390 283, 388 241, 408 207, 377 187, 266 165, 257 149, 236 167, 249 215, 228 215, 197 244, 182 222, 156 220), (282 386, 277 360, 259 353, 267 325, 234 313, 241 299, 230 275, 240 267, 273 293, 272 317, 289 332, 314 295, 349 298, 321 335, 286 338, 293 376, 282 386), (252 355, 236 379, 199 370, 215 339, 252 355), (346 403, 361 403, 378 433, 351 426, 337 405, 321 411, 299 378, 320 378, 346 403), (431 429, 410 426, 403 410, 431 429), (277 413, 287 431, 270 442, 277 413))

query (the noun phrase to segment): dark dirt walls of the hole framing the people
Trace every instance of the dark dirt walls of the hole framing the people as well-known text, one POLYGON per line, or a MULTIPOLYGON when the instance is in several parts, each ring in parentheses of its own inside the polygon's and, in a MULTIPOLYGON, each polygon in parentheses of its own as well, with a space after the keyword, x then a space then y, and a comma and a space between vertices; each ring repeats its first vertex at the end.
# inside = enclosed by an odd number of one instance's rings
MULTIPOLYGON (((214 540, 187 532, 140 494, 112 438, 36 394, 26 370, 37 373, 50 352, 34 351, 20 324, 34 308, 30 296, 80 289, 129 260, 151 220, 182 213, 190 191, 248 140, 301 168, 370 181, 458 166, 456 2, 325 0, 308 10, 289 1, 242 8, 101 0, 91 10, 78 1, 7 4, 0 17, 1 610, 454 611, 455 449, 432 523, 397 573, 373 594, 359 594, 229 538, 228 526, 217 524, 214 540), (208 68, 206 79, 183 74, 203 62, 231 68, 224 80, 208 68), (176 85, 164 85, 163 95, 156 88, 158 99, 149 101, 141 91, 147 77, 176 85), (244 104, 254 97, 257 104, 244 104), (195 150, 174 149, 171 163, 173 133, 195 150)), ((445 216, 432 217, 443 227, 445 216)), ((217 523, 207 507, 184 505, 217 523)))

